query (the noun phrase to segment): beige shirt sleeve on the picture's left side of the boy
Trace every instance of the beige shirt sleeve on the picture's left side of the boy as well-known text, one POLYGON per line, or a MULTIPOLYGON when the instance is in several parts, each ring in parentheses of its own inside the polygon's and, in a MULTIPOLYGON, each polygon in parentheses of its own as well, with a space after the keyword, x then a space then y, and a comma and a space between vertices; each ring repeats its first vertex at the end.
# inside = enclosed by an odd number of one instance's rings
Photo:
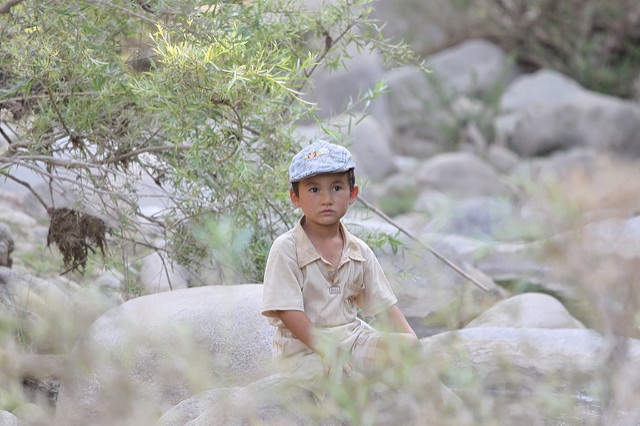
MULTIPOLYGON (((269 251, 264 273, 262 315, 275 317, 275 311, 304 311, 303 275, 290 234, 278 237, 269 251)), ((278 320, 279 322, 279 320, 278 320)), ((279 326, 271 321, 272 325, 279 326)))

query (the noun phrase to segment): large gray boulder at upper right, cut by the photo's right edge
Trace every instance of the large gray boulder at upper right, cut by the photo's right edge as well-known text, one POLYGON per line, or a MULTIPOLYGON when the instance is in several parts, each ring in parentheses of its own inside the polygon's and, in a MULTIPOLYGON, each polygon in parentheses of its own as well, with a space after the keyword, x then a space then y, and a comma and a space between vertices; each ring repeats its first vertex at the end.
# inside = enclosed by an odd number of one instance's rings
POLYGON ((637 103, 583 89, 552 71, 520 77, 501 100, 498 134, 522 156, 576 146, 640 156, 637 103))

